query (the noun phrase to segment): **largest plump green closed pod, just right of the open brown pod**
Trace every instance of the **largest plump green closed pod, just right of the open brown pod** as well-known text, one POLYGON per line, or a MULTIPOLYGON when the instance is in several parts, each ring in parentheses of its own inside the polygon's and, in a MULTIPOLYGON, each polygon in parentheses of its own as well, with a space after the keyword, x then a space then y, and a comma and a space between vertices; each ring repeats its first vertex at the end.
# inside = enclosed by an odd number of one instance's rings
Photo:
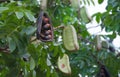
POLYGON ((76 30, 72 25, 66 26, 64 28, 63 43, 64 43, 64 47, 69 51, 79 50, 79 44, 78 44, 76 30))

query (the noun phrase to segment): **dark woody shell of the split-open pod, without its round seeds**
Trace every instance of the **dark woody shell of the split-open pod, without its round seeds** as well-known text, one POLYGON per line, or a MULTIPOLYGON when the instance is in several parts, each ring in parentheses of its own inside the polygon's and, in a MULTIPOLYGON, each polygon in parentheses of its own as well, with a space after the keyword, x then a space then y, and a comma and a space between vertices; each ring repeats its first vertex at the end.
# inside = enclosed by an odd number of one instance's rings
POLYGON ((53 41, 53 37, 54 37, 54 34, 53 34, 53 26, 52 26, 52 22, 51 22, 51 19, 50 17, 48 16, 48 14, 44 11, 41 11, 39 13, 39 16, 38 16, 38 19, 37 19, 37 31, 36 31, 36 36, 37 36, 37 39, 43 41, 43 42, 48 42, 48 41, 53 41), (48 22, 44 22, 43 21, 43 17, 46 17, 48 19, 48 22), (49 39, 45 39, 44 37, 46 36, 44 33, 45 29, 44 29, 44 25, 46 24, 50 24, 50 28, 49 30, 51 30, 51 38, 49 39))

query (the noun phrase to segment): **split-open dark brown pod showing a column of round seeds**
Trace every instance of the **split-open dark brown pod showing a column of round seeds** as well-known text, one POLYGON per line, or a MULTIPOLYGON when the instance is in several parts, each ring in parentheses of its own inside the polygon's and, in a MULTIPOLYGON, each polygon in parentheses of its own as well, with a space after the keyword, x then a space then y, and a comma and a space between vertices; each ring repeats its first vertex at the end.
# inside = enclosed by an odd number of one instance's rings
POLYGON ((53 40, 53 26, 47 13, 41 12, 37 20, 37 39, 41 41, 53 40))

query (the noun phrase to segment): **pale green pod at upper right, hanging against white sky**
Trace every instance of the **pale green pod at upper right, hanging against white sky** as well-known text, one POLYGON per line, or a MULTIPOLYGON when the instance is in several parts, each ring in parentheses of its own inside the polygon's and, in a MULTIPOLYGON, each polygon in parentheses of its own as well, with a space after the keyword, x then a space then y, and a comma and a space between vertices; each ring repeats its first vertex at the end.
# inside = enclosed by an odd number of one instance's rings
POLYGON ((80 18, 85 23, 89 23, 91 21, 91 18, 88 15, 85 7, 80 8, 80 18))

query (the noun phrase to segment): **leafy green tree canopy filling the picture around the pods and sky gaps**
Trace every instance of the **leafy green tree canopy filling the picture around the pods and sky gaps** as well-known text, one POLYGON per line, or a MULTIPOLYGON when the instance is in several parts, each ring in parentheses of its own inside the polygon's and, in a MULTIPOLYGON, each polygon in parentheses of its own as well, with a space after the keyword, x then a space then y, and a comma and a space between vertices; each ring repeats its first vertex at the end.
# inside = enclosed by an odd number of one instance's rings
POLYGON ((120 49, 112 41, 120 35, 120 1, 108 0, 106 11, 92 17, 86 5, 95 5, 94 0, 1 0, 0 77, 102 77, 101 69, 106 77, 118 77, 120 49), (54 39, 50 42, 36 38, 41 12, 52 22, 54 39), (93 18, 112 34, 91 35, 86 24, 93 18), (76 51, 67 50, 63 43, 63 30, 70 25, 77 34, 76 51), (63 54, 69 56, 71 74, 58 69, 58 57, 63 54))

